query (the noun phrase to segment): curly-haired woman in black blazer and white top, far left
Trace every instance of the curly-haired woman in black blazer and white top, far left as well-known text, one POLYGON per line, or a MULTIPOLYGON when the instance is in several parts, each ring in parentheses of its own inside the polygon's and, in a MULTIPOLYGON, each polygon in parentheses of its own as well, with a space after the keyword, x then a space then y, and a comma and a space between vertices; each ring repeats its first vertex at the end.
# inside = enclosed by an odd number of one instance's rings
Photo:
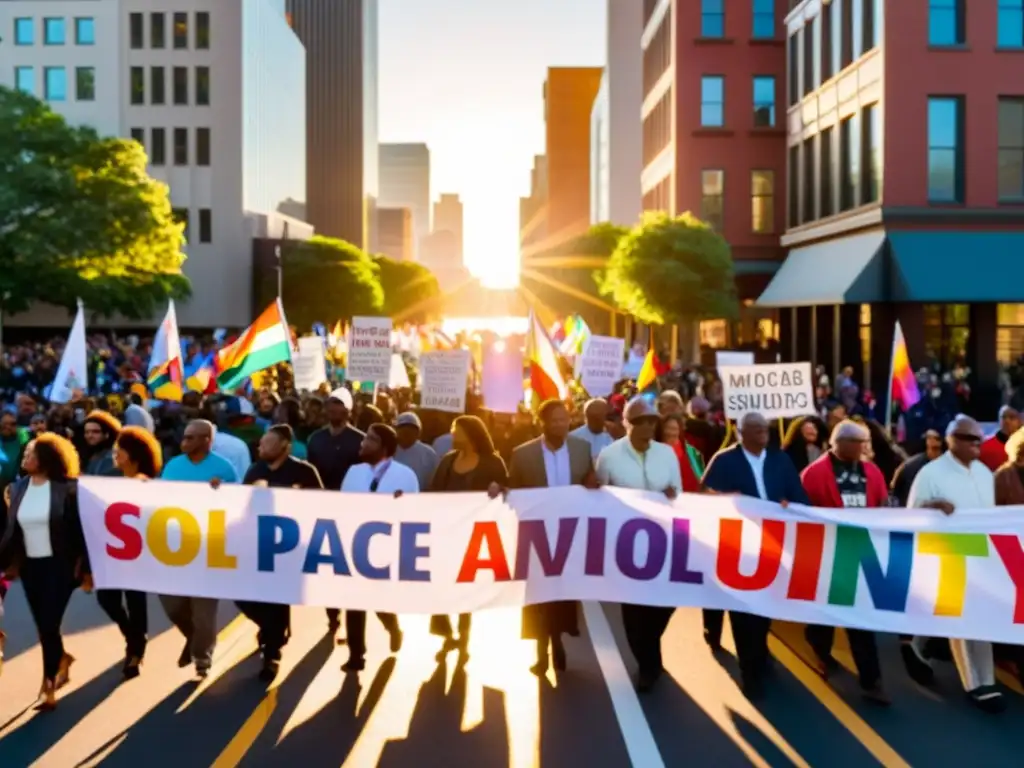
POLYGON ((22 580, 43 649, 38 709, 50 711, 56 707, 56 691, 71 679, 75 660, 60 634, 65 610, 76 588, 92 590, 78 516, 78 453, 67 438, 42 434, 26 446, 22 471, 22 479, 7 486, 0 568, 22 580))

